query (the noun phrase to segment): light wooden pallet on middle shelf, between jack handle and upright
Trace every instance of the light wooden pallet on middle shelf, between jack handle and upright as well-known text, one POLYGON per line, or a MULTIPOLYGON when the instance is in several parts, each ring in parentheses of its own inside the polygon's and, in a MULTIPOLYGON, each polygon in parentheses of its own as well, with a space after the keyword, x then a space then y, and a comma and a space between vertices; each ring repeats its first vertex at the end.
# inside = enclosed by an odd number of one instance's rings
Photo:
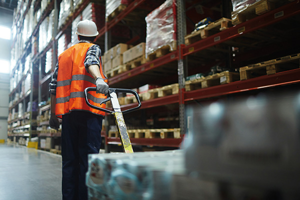
POLYGON ((167 95, 177 94, 179 90, 178 83, 165 85, 154 89, 149 89, 147 92, 141 93, 141 100, 149 100, 159 98, 167 95))

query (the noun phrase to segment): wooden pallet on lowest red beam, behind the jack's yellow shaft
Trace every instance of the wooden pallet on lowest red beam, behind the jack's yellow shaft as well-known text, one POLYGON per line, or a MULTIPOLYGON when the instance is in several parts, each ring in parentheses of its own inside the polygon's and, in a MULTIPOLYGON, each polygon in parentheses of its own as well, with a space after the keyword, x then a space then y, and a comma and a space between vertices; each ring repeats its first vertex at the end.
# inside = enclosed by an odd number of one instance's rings
MULTIPOLYGON (((128 129, 130 138, 180 138, 180 128, 128 129)), ((108 137, 118 137, 117 131, 108 131, 108 137)))

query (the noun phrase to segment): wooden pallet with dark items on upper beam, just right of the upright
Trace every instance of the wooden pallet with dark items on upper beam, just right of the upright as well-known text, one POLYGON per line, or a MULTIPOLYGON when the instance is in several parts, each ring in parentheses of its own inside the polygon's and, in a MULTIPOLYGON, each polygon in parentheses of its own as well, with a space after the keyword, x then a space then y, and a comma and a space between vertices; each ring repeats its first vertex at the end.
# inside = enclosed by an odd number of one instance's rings
POLYGON ((200 39, 206 38, 216 32, 227 29, 231 25, 231 19, 220 18, 212 23, 209 23, 206 27, 196 31, 192 31, 190 34, 185 35, 185 44, 191 44, 200 39))

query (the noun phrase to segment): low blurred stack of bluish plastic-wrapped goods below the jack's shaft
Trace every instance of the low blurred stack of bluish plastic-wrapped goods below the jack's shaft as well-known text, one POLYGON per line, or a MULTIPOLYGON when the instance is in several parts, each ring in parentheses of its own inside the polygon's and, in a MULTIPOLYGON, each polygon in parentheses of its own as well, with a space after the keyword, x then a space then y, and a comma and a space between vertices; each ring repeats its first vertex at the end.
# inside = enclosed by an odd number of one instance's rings
POLYGON ((86 185, 109 199, 169 199, 169 181, 183 163, 182 150, 92 154, 86 185))

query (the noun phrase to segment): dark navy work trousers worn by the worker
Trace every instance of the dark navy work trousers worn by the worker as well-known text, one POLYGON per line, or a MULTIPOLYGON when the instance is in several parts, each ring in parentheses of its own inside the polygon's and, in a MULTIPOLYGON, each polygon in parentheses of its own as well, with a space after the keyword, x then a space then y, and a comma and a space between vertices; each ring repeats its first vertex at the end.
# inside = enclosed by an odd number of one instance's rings
POLYGON ((87 199, 87 154, 99 153, 102 116, 87 111, 62 115, 62 199, 87 199))

